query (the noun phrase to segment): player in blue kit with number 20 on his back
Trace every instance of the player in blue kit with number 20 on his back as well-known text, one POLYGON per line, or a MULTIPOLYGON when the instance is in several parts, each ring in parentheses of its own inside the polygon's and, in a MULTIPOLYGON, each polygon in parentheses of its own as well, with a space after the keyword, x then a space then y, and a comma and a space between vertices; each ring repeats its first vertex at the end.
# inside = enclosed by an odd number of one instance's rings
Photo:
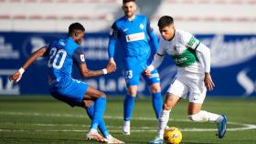
POLYGON ((108 65, 102 70, 88 69, 85 63, 85 55, 80 48, 85 35, 84 31, 85 29, 80 23, 71 24, 67 38, 59 39, 49 46, 39 48, 28 57, 25 64, 9 79, 17 83, 27 67, 38 57, 48 57, 49 92, 54 98, 68 103, 71 107, 86 108, 91 118, 91 128, 87 133, 87 139, 96 139, 105 143, 123 143, 123 141, 110 135, 102 119, 105 111, 106 95, 100 90, 71 77, 73 63, 79 67, 82 77, 97 77, 112 73, 116 69, 114 65, 108 65), (104 137, 97 132, 98 128, 104 137))

